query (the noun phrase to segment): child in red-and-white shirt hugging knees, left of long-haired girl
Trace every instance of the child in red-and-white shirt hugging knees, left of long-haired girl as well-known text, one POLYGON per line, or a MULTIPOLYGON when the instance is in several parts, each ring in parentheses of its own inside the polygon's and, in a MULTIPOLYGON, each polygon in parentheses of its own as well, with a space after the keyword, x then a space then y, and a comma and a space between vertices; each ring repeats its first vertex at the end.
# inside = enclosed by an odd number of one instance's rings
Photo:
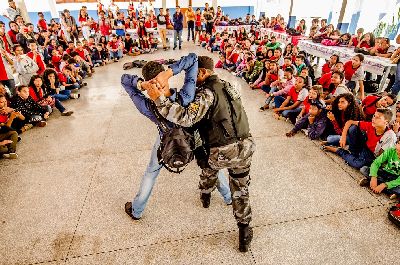
POLYGON ((279 116, 282 115, 284 118, 289 118, 293 124, 295 123, 296 117, 301 112, 303 101, 308 96, 306 86, 307 79, 298 76, 295 85, 289 90, 286 98, 282 96, 274 98, 274 117, 276 119, 279 119, 279 116))

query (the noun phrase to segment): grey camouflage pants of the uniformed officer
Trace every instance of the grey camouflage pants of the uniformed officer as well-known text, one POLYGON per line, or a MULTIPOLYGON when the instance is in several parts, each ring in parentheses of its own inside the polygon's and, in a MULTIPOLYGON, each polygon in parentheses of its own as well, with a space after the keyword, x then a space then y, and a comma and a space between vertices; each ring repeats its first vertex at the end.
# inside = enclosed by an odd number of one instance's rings
POLYGON ((210 167, 203 169, 200 175, 201 193, 208 194, 216 185, 218 171, 228 169, 233 215, 238 223, 243 224, 251 221, 249 172, 254 150, 255 143, 251 137, 230 145, 211 148, 208 160, 210 167))

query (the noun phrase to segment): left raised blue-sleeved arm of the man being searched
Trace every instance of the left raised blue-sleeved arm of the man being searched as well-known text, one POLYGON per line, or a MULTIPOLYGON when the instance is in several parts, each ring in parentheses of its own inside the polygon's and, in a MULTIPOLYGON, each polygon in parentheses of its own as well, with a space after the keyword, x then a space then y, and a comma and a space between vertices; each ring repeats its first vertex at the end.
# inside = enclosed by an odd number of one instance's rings
POLYGON ((141 80, 136 75, 123 74, 121 76, 121 85, 128 93, 133 104, 141 114, 156 123, 157 118, 149 109, 149 99, 138 89, 138 82, 141 82, 141 80))

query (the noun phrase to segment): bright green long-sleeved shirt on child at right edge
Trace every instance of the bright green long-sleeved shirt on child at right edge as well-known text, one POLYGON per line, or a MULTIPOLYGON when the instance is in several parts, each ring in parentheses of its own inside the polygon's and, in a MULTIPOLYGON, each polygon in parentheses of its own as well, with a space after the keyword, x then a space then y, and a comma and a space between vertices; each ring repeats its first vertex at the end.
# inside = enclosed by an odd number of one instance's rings
POLYGON ((398 176, 397 179, 385 183, 388 189, 400 186, 400 159, 397 155, 397 150, 395 147, 387 149, 375 159, 375 161, 371 165, 369 175, 371 177, 377 177, 378 170, 382 165, 384 165, 384 171, 398 176))

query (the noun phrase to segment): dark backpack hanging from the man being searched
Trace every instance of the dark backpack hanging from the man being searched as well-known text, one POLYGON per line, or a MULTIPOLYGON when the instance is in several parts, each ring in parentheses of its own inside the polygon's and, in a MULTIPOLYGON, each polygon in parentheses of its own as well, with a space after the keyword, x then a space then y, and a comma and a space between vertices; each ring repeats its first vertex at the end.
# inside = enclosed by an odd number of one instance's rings
POLYGON ((172 173, 181 173, 194 158, 194 137, 179 125, 169 126, 156 106, 153 103, 151 106, 160 123, 159 130, 162 134, 160 147, 157 150, 158 162, 172 173))

